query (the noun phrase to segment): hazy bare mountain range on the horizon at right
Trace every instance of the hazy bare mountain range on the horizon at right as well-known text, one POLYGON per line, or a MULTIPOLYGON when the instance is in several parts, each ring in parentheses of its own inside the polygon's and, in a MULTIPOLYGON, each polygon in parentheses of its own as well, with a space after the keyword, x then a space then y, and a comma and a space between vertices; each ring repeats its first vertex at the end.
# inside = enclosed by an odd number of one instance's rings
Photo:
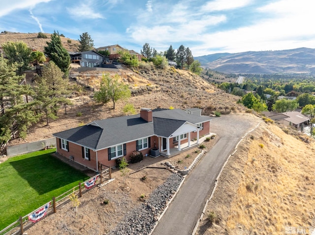
POLYGON ((315 49, 297 48, 283 51, 215 53, 194 57, 201 66, 223 73, 315 74, 315 49))

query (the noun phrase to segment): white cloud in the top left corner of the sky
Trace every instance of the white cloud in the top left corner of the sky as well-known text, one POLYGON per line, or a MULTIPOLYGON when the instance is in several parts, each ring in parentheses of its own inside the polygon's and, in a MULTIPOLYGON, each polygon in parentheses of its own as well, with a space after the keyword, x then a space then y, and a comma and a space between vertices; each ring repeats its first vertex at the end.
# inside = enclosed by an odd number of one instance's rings
POLYGON ((10 14, 14 10, 29 9, 38 3, 49 2, 51 0, 10 0, 2 1, 0 7, 0 17, 10 14))

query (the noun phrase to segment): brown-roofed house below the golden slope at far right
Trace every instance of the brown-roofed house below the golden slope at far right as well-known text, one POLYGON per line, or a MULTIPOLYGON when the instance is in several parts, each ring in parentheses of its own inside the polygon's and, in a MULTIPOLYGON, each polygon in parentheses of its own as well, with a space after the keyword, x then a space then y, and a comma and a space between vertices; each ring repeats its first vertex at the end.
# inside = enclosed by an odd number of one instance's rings
POLYGON ((285 126, 300 128, 302 124, 308 125, 310 122, 310 118, 301 114, 300 112, 291 111, 284 113, 275 113, 275 112, 263 112, 265 116, 271 118, 272 120, 281 123, 285 126))

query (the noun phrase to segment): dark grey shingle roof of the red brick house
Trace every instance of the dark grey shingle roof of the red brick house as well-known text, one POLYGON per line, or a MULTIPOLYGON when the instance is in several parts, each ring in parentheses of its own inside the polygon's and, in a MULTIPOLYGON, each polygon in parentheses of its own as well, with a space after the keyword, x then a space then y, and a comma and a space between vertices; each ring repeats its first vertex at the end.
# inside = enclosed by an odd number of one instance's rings
POLYGON ((54 136, 99 150, 154 134, 168 137, 186 121, 196 124, 210 120, 188 114, 181 109, 154 110, 152 114, 153 122, 151 123, 146 122, 140 114, 137 114, 96 120, 83 127, 55 133, 54 136))

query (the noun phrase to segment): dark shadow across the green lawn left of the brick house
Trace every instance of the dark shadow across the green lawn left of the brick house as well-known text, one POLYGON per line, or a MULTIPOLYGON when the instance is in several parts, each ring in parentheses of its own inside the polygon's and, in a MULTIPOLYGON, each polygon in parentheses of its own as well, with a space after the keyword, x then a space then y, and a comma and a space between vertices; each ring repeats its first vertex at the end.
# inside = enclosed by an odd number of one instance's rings
POLYGON ((28 157, 10 164, 39 195, 89 178, 51 154, 28 157))

